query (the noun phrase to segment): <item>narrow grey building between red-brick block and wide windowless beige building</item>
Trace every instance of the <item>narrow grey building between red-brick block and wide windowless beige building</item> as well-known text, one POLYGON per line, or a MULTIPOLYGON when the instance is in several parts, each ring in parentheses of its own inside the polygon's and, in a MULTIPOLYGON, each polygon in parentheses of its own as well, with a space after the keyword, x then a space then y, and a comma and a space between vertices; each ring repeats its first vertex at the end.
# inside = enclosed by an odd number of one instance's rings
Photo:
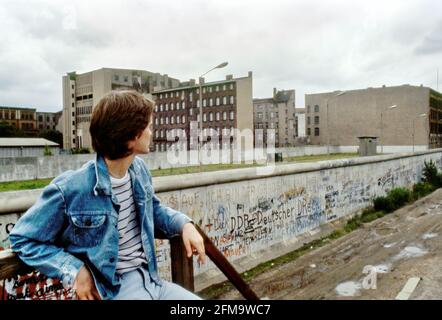
POLYGON ((273 129, 275 147, 293 146, 297 137, 295 117, 295 90, 274 88, 272 98, 253 99, 254 129, 263 130, 264 145, 267 144, 267 130, 273 129))

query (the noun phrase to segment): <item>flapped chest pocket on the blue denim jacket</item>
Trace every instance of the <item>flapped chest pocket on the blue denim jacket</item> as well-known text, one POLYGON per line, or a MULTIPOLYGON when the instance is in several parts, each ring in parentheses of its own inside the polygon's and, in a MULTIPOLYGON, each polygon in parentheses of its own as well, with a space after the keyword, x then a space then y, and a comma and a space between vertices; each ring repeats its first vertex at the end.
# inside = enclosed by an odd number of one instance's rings
POLYGON ((91 247, 99 244, 106 230, 108 214, 103 211, 81 211, 69 213, 73 224, 73 239, 76 245, 91 247))

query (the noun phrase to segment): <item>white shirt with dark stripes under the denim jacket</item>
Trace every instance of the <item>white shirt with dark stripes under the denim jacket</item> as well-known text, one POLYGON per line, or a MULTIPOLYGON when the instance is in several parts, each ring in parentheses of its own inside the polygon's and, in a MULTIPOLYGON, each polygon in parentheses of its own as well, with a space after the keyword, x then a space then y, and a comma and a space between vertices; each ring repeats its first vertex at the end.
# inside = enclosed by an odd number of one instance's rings
POLYGON ((121 179, 110 177, 112 193, 120 204, 118 216, 118 262, 117 273, 123 274, 147 263, 141 243, 141 230, 133 199, 132 184, 129 173, 121 179))

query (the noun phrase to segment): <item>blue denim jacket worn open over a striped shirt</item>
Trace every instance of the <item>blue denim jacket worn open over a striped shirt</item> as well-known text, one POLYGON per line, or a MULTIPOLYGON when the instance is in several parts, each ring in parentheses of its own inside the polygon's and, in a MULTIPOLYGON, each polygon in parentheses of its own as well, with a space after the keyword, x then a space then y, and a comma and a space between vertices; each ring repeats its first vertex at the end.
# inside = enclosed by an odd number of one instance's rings
MULTIPOLYGON (((154 236, 178 236, 191 219, 160 203, 142 159, 134 158, 129 174, 148 271, 152 280, 161 285, 154 236)), ((61 279, 65 286, 72 285, 86 265, 101 297, 112 299, 120 289, 115 272, 119 207, 106 162, 97 155, 96 160, 63 173, 43 190, 11 231, 12 250, 27 265, 61 279)))

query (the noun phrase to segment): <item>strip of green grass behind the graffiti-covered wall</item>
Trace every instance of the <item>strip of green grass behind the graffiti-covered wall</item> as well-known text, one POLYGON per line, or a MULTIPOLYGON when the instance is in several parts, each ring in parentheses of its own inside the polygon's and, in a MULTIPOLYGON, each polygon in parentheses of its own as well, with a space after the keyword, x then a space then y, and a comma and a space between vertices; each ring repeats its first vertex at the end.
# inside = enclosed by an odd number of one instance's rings
MULTIPOLYGON (((322 160, 335 160, 342 158, 350 158, 356 157, 356 153, 334 153, 330 155, 313 155, 313 156, 299 156, 299 157, 290 157, 284 159, 283 164, 294 163, 294 162, 313 162, 313 161, 322 161, 322 160)), ((280 164, 277 162, 276 164, 280 164)), ((233 164, 208 164, 202 167, 200 166, 190 166, 190 167, 182 167, 182 168, 170 168, 170 169, 157 169, 151 170, 151 174, 153 177, 161 177, 161 176, 170 176, 176 174, 186 174, 186 173, 197 173, 197 172, 211 172, 218 170, 229 170, 229 169, 238 169, 238 168, 250 168, 262 166, 254 162, 253 164, 245 164, 245 163, 233 163, 233 164)), ((44 188, 52 181, 50 179, 37 179, 37 180, 26 180, 26 181, 12 181, 12 182, 0 182, 0 192, 5 191, 16 191, 16 190, 31 190, 31 189, 39 189, 44 188)))

